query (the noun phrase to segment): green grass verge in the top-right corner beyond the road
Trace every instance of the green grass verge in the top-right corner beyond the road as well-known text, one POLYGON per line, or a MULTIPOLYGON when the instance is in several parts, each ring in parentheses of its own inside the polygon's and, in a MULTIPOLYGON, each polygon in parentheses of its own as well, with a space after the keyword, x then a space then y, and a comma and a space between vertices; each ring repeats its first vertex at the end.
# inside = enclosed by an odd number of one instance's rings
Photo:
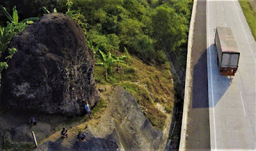
POLYGON ((254 40, 256 40, 256 11, 253 10, 250 0, 239 0, 239 3, 244 12, 246 21, 248 22, 248 25, 252 31, 254 40))

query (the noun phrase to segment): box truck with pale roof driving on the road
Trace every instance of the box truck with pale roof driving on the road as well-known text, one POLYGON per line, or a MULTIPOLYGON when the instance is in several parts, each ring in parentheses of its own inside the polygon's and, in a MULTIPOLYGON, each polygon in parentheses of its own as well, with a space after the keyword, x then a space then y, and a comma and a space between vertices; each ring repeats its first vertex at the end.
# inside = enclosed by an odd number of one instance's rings
POLYGON ((217 64, 221 75, 234 76, 239 63, 240 52, 230 27, 216 27, 214 45, 217 50, 217 64))

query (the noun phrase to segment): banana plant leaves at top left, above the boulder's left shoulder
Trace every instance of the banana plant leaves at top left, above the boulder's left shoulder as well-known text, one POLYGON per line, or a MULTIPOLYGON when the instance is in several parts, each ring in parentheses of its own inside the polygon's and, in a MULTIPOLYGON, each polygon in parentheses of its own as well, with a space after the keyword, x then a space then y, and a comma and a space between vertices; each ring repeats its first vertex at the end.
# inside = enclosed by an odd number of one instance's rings
MULTIPOLYGON (((8 13, 6 8, 4 8, 3 6, 1 6, 1 10, 3 11, 4 15, 10 20, 10 22, 12 22, 13 24, 19 23, 19 16, 18 16, 18 11, 16 10, 16 6, 14 6, 12 9, 12 11, 13 11, 12 16, 10 15, 10 13, 8 13)), ((33 21, 38 20, 38 19, 39 19, 38 17, 29 17, 29 18, 22 20, 21 22, 31 24, 31 23, 33 23, 33 21)))

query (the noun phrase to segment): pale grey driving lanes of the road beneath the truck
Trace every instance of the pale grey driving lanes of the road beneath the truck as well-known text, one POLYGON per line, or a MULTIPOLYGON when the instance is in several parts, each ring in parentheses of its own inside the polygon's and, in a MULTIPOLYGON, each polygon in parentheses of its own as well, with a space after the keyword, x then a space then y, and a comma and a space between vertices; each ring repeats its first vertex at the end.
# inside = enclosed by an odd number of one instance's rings
POLYGON ((207 0, 207 69, 211 150, 256 150, 256 43, 237 0, 207 0), (216 26, 231 27, 241 52, 235 76, 216 63, 216 26))

